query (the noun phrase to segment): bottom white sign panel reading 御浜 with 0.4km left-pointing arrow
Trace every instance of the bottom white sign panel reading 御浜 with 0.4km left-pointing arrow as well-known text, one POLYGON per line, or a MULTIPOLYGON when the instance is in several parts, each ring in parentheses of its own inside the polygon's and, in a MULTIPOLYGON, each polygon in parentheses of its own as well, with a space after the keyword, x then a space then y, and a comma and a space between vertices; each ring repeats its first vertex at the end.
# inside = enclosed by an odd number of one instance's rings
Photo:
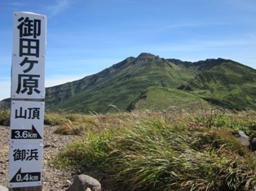
POLYGON ((42 144, 11 144, 9 187, 40 186, 42 180, 42 144))

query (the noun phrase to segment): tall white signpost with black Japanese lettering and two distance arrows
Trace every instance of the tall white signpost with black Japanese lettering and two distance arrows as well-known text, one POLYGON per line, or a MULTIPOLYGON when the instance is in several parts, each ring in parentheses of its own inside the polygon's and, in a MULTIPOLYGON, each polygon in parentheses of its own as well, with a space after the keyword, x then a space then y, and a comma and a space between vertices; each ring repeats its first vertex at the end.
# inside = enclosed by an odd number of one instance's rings
POLYGON ((14 12, 9 191, 42 190, 46 16, 14 12))

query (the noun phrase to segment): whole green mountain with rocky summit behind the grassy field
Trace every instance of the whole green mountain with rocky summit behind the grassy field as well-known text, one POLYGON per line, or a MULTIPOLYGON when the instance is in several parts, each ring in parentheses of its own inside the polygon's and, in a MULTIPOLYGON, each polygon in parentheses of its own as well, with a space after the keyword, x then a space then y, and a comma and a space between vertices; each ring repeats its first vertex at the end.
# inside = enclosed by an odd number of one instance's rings
POLYGON ((168 110, 195 101, 256 110, 255 95, 256 70, 241 63, 229 59, 192 63, 142 53, 95 75, 46 88, 46 110, 168 110))

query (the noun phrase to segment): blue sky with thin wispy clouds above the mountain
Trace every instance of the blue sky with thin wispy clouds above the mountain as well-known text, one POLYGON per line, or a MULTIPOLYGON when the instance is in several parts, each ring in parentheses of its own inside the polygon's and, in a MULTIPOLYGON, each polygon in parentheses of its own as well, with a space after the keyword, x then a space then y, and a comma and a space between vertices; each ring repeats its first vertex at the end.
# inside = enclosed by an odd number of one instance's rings
POLYGON ((255 0, 2 0, 0 99, 11 95, 14 11, 47 16, 46 87, 142 52, 256 68, 255 0))

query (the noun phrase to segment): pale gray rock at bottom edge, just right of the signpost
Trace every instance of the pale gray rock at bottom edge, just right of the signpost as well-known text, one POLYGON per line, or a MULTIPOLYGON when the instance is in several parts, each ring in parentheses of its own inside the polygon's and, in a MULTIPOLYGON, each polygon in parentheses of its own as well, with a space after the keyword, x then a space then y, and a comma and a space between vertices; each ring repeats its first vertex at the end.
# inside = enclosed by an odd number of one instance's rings
POLYGON ((98 180, 86 175, 75 176, 69 191, 101 191, 101 184, 98 180))

